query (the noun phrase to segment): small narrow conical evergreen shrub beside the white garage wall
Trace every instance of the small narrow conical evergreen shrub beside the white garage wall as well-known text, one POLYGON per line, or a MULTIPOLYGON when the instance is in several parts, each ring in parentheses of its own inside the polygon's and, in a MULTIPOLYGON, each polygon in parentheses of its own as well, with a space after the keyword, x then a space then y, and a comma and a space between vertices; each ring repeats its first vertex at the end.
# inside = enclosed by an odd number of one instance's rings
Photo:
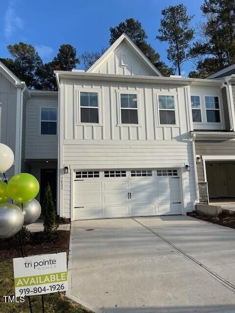
POLYGON ((44 231, 47 233, 48 240, 54 240, 57 237, 56 230, 59 224, 56 222, 56 211, 55 204, 52 198, 52 192, 50 189, 50 185, 47 185, 44 201, 44 231))

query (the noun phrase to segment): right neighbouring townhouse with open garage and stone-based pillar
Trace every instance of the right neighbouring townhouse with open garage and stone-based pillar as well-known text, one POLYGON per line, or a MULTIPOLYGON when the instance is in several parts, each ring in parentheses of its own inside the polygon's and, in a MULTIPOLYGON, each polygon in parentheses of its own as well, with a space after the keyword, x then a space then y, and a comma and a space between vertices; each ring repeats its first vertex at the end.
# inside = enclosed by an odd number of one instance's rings
POLYGON ((235 205, 234 74, 235 65, 226 67, 207 77, 217 90, 190 90, 200 201, 225 207, 235 205))

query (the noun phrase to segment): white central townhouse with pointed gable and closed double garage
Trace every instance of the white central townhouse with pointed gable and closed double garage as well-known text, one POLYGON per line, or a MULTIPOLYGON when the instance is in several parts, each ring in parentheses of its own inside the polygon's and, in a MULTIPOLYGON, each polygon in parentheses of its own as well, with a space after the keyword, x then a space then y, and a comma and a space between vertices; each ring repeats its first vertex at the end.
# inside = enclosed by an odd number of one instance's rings
POLYGON ((162 77, 125 34, 87 72, 55 73, 60 215, 192 211, 198 198, 189 118, 194 79, 162 77))

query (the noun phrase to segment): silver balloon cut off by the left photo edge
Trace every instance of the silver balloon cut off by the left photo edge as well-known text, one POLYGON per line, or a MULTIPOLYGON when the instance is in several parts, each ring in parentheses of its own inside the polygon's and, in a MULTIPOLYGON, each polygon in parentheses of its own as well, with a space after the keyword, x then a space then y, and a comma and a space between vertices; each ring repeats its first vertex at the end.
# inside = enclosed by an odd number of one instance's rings
POLYGON ((15 235, 24 224, 22 210, 11 203, 0 204, 0 238, 15 235))

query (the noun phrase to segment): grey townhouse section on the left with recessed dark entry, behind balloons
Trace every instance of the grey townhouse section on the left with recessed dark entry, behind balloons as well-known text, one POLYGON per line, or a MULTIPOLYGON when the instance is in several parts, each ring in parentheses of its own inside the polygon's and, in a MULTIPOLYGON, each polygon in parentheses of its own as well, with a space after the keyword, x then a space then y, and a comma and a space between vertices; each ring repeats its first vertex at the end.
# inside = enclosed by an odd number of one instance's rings
POLYGON ((0 142, 15 155, 6 178, 19 172, 32 173, 40 182, 37 199, 41 202, 47 183, 56 201, 57 107, 58 92, 28 90, 0 62, 0 142))

